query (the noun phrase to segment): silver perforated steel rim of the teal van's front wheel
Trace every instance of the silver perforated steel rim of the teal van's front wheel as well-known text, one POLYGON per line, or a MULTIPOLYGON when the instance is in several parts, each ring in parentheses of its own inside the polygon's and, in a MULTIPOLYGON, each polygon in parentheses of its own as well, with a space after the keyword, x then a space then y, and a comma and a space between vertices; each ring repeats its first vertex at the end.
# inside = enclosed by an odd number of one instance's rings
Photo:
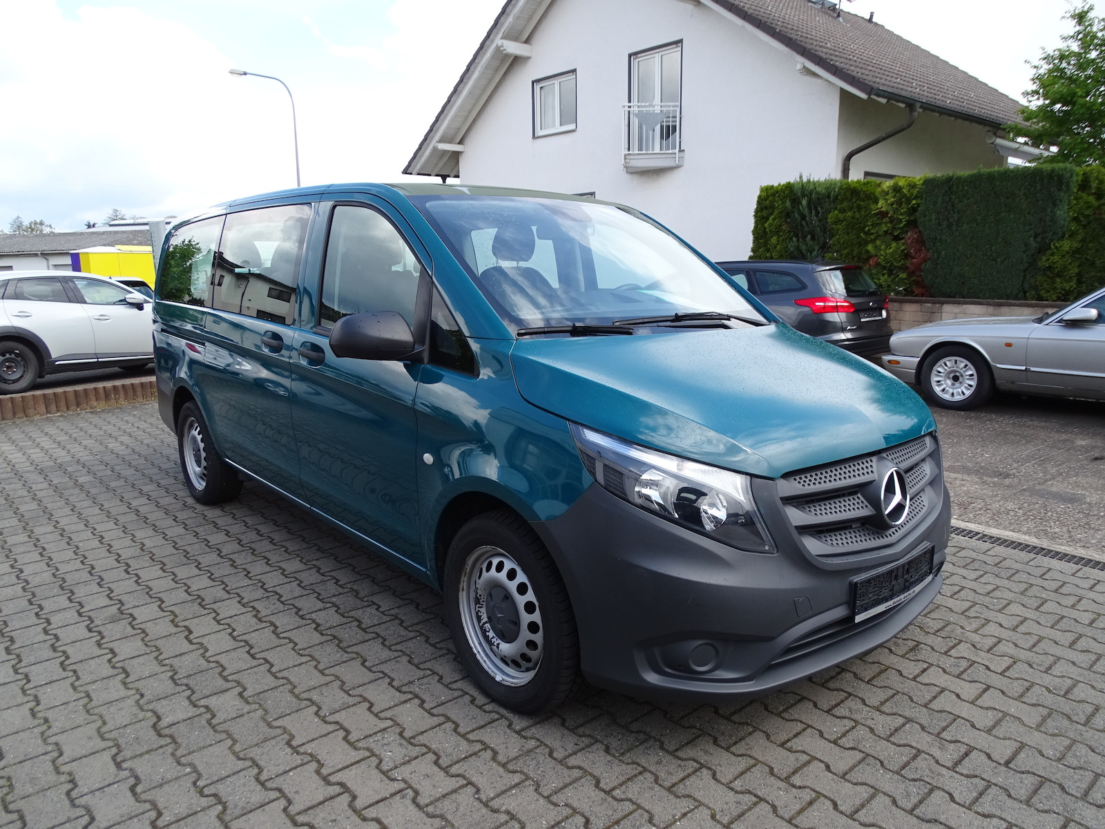
POLYGON ((496 682, 525 685, 545 651, 545 627, 525 570, 498 547, 480 547, 461 575, 461 621, 476 659, 496 682))

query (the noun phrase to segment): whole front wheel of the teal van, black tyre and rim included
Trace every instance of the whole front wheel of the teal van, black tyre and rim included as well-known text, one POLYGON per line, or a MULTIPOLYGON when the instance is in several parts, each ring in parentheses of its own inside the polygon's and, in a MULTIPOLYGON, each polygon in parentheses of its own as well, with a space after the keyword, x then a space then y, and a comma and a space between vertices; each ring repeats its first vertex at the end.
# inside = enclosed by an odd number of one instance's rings
POLYGON ((461 527, 444 590, 456 654, 481 691, 523 714, 567 699, 579 672, 576 619, 551 556, 525 521, 503 510, 461 527))

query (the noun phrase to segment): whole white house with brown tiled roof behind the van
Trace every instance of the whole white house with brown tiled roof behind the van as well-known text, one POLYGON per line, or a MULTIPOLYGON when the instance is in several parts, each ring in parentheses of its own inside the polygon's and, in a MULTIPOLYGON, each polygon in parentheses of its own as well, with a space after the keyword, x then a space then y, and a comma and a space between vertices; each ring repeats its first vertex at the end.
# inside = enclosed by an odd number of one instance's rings
POLYGON ((403 171, 593 192, 741 259, 761 185, 1003 166, 1018 107, 832 0, 506 0, 403 171))

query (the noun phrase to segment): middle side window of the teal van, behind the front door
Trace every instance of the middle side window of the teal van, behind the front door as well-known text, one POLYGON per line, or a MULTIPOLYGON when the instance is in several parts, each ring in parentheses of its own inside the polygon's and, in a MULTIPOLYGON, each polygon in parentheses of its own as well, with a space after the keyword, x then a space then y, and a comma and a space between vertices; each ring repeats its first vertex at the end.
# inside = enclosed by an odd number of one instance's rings
POLYGON ((211 274, 211 307, 291 325, 309 221, 308 204, 228 216, 211 274))

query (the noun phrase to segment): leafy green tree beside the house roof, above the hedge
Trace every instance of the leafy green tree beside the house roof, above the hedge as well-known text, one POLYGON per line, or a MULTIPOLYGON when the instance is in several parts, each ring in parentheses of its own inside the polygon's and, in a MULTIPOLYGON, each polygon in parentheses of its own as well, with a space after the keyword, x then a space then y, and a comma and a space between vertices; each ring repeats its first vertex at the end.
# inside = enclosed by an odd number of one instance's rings
POLYGON ((1014 138, 1040 147, 1056 147, 1046 164, 1105 164, 1105 19, 1082 0, 1066 19, 1074 31, 1064 45, 1033 63, 1032 88, 1021 107, 1024 124, 1009 124, 1014 138))

